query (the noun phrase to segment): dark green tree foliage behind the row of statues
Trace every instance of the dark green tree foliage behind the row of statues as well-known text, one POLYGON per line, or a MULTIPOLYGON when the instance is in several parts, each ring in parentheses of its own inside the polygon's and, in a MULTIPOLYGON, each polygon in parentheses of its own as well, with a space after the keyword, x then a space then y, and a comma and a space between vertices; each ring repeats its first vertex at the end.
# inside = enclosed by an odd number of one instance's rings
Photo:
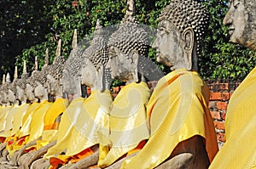
MULTIPOLYGON (((225 0, 198 0, 207 7, 210 22, 203 54, 199 60, 200 74, 205 79, 230 78, 242 80, 255 65, 255 54, 229 42, 227 27, 222 24, 227 13, 225 0)), ((148 25, 154 41, 157 19, 170 0, 136 0, 137 20, 148 25)), ((117 25, 125 14, 126 0, 56 0, 56 1, 10 1, 0 2, 1 19, 1 70, 0 74, 13 72, 14 66, 22 70, 22 60, 32 71, 34 58, 38 56, 39 68, 44 65, 44 54, 49 48, 50 63, 55 56, 59 39, 61 55, 68 57, 72 47, 73 30, 77 29, 79 41, 90 37, 96 20, 104 26, 117 25)), ((148 57, 155 61, 155 52, 148 57)), ((163 65, 162 70, 168 72, 163 65)), ((114 84, 117 82, 114 82, 114 84)))

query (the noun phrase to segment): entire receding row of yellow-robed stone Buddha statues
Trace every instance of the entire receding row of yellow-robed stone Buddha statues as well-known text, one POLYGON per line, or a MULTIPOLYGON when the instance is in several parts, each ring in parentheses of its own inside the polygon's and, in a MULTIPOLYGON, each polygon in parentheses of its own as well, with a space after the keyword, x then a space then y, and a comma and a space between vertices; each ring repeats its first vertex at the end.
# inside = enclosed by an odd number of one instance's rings
MULTIPOLYGON (((230 0, 224 18, 231 42, 256 50, 256 2, 230 0), (241 26, 242 25, 242 26, 241 26)), ((209 16, 195 0, 172 0, 160 14, 152 48, 164 75, 148 59, 149 36, 135 17, 135 2, 106 37, 100 21, 87 48, 78 43, 53 64, 48 52, 38 70, 0 87, 2 168, 253 168, 256 70, 230 99, 226 143, 218 142, 208 103, 210 92, 197 73, 209 16), (125 82, 116 97, 113 79, 125 82), (158 81, 151 91, 148 81, 158 81), (81 85, 90 87, 82 97, 81 85), (50 99, 49 99, 50 98, 50 99), (52 99, 54 98, 54 99, 52 99)), ((16 71, 15 71, 16 72, 16 71)))

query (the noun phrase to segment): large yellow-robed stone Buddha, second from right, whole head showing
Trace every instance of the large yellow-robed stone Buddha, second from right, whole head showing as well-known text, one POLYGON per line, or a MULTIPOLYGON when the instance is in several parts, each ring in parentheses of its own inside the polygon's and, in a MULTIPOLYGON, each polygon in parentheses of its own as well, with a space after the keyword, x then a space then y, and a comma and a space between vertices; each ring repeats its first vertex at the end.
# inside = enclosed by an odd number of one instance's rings
POLYGON ((207 168, 216 155, 210 93, 195 71, 207 20, 206 9, 194 0, 173 0, 161 12, 153 48, 172 72, 148 101, 147 144, 121 168, 207 168))

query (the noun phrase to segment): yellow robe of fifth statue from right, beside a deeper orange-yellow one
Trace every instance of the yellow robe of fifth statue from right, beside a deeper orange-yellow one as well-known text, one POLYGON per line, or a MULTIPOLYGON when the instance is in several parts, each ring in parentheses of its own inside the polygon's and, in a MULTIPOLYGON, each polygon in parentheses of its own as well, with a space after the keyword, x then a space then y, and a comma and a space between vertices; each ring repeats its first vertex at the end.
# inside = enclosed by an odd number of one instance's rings
POLYGON ((79 115, 80 112, 85 111, 84 110, 84 98, 79 97, 77 99, 74 99, 67 107, 67 110, 63 112, 63 115, 61 115, 61 123, 57 132, 57 143, 48 149, 47 153, 44 155, 44 158, 49 159, 51 156, 58 155, 61 153, 64 149, 67 149, 67 143, 70 143, 71 140, 71 134, 74 127, 73 127, 73 121, 69 120, 69 114, 70 115, 79 115))

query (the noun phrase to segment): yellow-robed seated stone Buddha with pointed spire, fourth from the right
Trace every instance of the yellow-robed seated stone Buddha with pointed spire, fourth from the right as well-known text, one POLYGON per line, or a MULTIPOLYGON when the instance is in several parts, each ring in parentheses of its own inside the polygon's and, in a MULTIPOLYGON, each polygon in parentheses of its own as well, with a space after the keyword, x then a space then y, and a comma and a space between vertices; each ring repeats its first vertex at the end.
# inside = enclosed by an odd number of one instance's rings
POLYGON ((108 121, 112 97, 109 92, 110 80, 108 76, 105 76, 108 48, 104 36, 105 32, 98 20, 91 45, 83 53, 82 71, 78 72, 82 73, 81 82, 90 87, 91 94, 87 99, 81 101, 74 99, 61 117, 60 130, 65 130, 65 127, 68 127, 68 130, 63 132, 65 133, 63 137, 61 134, 58 135, 58 138, 62 139, 58 139, 55 147, 49 149, 45 156, 52 156, 63 149, 67 149, 66 158, 63 157, 64 155, 50 157, 49 161, 53 167, 65 165, 68 161, 67 165, 62 166, 63 168, 95 165, 99 158, 99 138, 106 138, 108 135, 106 133, 108 127, 104 128, 104 125, 108 121), (62 120, 66 123, 62 123, 62 120), (62 124, 65 127, 62 127, 62 124), (93 160, 91 161, 91 159, 93 160))

